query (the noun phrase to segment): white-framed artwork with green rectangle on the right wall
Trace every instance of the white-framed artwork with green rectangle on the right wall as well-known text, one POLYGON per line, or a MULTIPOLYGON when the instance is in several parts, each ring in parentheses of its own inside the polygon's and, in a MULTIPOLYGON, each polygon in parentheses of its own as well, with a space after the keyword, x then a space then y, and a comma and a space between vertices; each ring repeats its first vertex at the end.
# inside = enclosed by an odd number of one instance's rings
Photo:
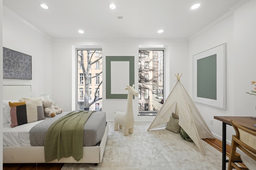
POLYGON ((226 43, 193 56, 193 101, 226 109, 226 43))

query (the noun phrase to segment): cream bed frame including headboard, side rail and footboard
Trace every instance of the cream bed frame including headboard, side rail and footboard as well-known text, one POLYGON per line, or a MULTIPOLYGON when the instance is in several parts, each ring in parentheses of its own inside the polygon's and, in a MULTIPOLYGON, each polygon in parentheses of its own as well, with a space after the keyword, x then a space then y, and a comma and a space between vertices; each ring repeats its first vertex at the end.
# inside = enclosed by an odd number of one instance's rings
MULTIPOLYGON (((4 85, 3 86, 3 100, 18 100, 24 96, 20 96, 18 91, 26 90, 27 96, 31 96, 31 86, 22 85, 4 85), (6 87, 4 87, 6 86, 6 87), (8 90, 4 90, 8 89, 8 90), (29 95, 29 94, 30 95, 29 95), (5 97, 4 97, 5 96, 5 97)), ((106 142, 108 139, 108 122, 106 123, 106 129, 104 136, 99 146, 83 147, 83 158, 76 161, 72 156, 68 158, 61 158, 59 161, 53 160, 48 163, 94 163, 98 164, 102 161, 106 142)), ((3 147, 3 163, 45 163, 44 160, 44 147, 3 147)))

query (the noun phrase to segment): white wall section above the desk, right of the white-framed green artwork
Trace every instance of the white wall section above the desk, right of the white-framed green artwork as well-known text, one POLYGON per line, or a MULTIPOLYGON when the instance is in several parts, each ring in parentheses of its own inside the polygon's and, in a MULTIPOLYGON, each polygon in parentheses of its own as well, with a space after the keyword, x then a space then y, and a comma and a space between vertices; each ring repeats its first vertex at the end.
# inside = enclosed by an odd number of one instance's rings
POLYGON ((256 116, 256 96, 250 96, 256 80, 256 0, 234 13, 234 115, 256 116))

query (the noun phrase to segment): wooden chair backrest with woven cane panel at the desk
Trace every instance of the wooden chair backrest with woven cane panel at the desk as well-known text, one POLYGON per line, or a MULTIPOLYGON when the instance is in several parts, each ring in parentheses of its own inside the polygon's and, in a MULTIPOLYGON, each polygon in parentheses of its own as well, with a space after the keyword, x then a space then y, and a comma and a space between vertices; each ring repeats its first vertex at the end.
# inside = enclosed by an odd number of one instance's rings
POLYGON ((242 152, 256 160, 256 132, 239 125, 235 121, 231 121, 231 124, 236 131, 232 140, 237 143, 237 147, 242 152))

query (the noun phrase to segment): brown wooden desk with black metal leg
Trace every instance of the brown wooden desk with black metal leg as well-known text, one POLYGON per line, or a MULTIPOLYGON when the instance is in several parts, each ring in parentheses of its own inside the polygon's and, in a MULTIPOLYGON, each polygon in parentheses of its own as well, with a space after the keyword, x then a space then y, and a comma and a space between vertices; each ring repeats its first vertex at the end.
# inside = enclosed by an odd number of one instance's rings
POLYGON ((214 119, 222 121, 222 170, 226 170, 226 125, 231 125, 230 121, 236 121, 238 124, 256 131, 256 127, 253 125, 256 124, 256 119, 251 117, 244 116, 214 116, 214 119))

